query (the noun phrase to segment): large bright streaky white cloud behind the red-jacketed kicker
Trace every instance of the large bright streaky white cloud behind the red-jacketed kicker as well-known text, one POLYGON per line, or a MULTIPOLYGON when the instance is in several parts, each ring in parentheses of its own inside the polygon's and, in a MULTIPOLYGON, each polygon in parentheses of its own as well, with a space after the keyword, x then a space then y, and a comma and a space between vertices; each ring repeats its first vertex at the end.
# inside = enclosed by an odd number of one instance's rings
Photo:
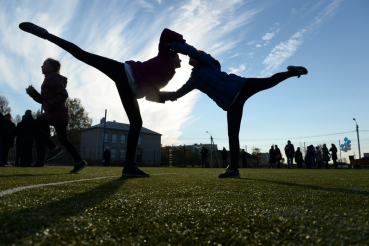
MULTIPOLYGON (((160 4, 161 0, 157 2, 160 4)), ((173 3, 163 10, 144 0, 115 1, 114 4, 88 1, 89 8, 81 16, 81 12, 76 11, 83 9, 84 3, 86 1, 61 3, 51 0, 48 5, 27 1, 21 4, 1 2, 0 81, 1 88, 6 87, 9 91, 24 93, 29 84, 39 89, 43 81, 40 66, 45 58, 54 57, 62 62, 62 74, 68 77, 70 97, 81 99, 94 124, 104 116, 104 109, 108 109, 108 120, 128 123, 114 82, 60 47, 21 31, 18 28, 20 22, 34 22, 88 52, 121 62, 145 61, 155 56, 160 33, 168 27, 216 58, 244 40, 248 25, 262 11, 261 7, 248 8, 240 14, 240 7, 246 4, 242 0, 211 3, 192 0, 173 3), (58 11, 53 11, 55 9, 58 11), (232 35, 235 32, 237 36, 232 35)), ((182 68, 163 90, 177 90, 189 77, 188 58, 181 56, 181 59, 182 68)), ((239 66, 236 69, 242 71, 245 68, 239 66)), ((181 128, 196 121, 191 118, 191 112, 202 96, 195 90, 176 102, 165 104, 140 99, 144 127, 163 134, 163 139, 168 139, 164 144, 180 143, 181 128)), ((19 112, 24 112, 25 104, 39 108, 26 95, 21 98, 24 102, 17 106, 19 112)), ((10 100, 12 105, 17 105, 16 99, 10 100)))

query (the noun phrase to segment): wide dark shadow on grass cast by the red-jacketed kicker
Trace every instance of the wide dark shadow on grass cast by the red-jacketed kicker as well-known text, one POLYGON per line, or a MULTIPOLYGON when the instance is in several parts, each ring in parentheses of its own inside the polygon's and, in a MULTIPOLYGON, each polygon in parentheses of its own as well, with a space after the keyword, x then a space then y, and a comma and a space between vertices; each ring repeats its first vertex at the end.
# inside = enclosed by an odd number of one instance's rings
POLYGON ((0 244, 23 244, 23 239, 37 233, 43 234, 44 229, 51 227, 59 220, 82 214, 87 208, 113 196, 125 181, 127 179, 115 179, 87 192, 49 202, 42 207, 24 208, 2 214, 0 216, 0 244))

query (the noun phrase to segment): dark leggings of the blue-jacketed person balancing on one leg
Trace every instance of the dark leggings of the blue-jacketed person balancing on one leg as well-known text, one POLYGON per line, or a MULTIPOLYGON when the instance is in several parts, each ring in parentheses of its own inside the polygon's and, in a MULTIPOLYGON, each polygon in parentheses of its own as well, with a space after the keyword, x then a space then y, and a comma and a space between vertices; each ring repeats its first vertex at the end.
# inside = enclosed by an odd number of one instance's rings
POLYGON ((247 78, 236 101, 227 110, 228 138, 231 155, 231 168, 238 169, 238 155, 240 149, 239 133, 242 119, 243 105, 246 100, 259 91, 276 86, 285 79, 297 76, 293 71, 274 74, 270 78, 247 78))

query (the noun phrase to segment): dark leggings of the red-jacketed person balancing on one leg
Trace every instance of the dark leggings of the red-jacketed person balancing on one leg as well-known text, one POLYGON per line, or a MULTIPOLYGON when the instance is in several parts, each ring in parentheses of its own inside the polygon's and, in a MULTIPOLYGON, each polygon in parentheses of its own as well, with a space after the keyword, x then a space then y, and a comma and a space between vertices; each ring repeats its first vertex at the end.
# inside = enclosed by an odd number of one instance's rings
POLYGON ((130 123, 126 150, 126 165, 133 165, 136 156, 138 138, 142 128, 142 118, 137 99, 128 84, 124 64, 112 59, 88 53, 75 44, 52 34, 48 35, 47 40, 58 45, 65 51, 68 51, 78 60, 100 70, 115 82, 120 100, 122 101, 130 123))

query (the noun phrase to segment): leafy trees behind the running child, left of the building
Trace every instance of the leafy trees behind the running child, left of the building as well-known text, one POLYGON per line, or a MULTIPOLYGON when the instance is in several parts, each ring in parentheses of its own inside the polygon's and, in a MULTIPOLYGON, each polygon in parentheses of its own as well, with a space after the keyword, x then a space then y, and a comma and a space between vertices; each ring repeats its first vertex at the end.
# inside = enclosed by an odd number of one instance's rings
MULTIPOLYGON (((69 109, 69 124, 68 124, 68 138, 70 142, 74 145, 79 145, 81 141, 81 129, 91 127, 92 118, 88 116, 88 112, 82 106, 81 100, 79 98, 68 98, 67 105, 69 109)), ((3 114, 11 114, 11 107, 9 106, 9 100, 4 97, 0 96, 0 107, 3 107, 3 114)), ((26 111, 27 108, 24 109, 26 111)), ((37 115, 41 114, 40 110, 36 112, 32 112, 33 117, 36 118, 37 115)), ((13 122, 18 124, 22 121, 22 116, 12 115, 13 122)), ((53 138, 56 137, 56 132, 53 127, 51 128, 51 136, 53 138)))

